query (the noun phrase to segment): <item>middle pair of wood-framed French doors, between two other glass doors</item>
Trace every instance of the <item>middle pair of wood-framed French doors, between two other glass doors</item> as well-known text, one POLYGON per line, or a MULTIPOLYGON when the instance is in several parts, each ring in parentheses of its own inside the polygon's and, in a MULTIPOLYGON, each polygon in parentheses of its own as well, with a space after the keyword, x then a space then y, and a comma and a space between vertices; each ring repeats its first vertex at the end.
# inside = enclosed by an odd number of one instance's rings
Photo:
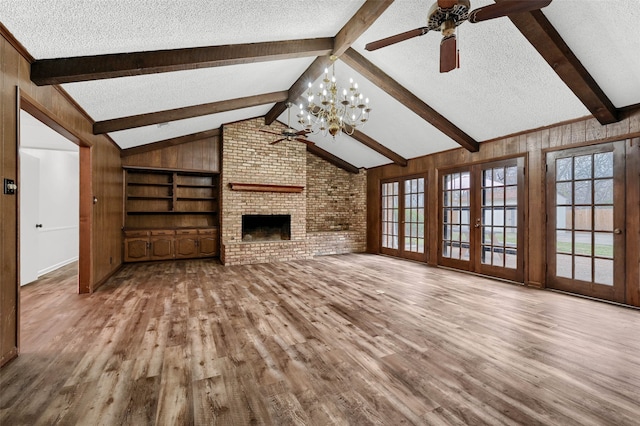
POLYGON ((442 173, 438 264, 522 282, 523 187, 522 157, 442 173))

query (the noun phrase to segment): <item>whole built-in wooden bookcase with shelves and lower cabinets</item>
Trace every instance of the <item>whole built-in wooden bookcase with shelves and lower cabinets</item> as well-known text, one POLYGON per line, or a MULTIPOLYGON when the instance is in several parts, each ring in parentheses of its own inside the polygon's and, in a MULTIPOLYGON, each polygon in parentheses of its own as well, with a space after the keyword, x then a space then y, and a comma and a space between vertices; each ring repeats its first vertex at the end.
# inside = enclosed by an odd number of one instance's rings
POLYGON ((219 174, 124 166, 124 261, 218 255, 219 174))

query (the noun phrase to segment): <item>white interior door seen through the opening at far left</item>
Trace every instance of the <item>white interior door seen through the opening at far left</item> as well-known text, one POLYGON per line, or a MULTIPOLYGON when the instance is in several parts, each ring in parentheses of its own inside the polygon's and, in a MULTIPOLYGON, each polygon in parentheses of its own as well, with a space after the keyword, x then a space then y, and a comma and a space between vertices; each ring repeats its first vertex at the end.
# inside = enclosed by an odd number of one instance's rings
POLYGON ((38 279, 40 159, 20 152, 20 285, 38 279))

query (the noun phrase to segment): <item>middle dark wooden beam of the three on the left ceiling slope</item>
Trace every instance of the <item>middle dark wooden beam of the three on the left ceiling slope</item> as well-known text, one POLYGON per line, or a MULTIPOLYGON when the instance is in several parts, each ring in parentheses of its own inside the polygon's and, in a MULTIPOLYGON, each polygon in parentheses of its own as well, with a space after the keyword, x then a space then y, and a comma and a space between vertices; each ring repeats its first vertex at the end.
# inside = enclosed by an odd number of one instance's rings
POLYGON ((200 117, 203 115, 233 111, 258 105, 281 102, 287 99, 288 92, 264 93, 261 95, 247 96, 244 98, 228 99, 225 101, 211 102, 208 104, 193 105, 183 108, 168 109, 147 114, 131 115, 128 117, 113 118, 111 120, 97 121, 93 124, 93 134, 99 135, 119 130, 133 129, 136 127, 150 126, 159 123, 168 123, 186 118, 200 117))

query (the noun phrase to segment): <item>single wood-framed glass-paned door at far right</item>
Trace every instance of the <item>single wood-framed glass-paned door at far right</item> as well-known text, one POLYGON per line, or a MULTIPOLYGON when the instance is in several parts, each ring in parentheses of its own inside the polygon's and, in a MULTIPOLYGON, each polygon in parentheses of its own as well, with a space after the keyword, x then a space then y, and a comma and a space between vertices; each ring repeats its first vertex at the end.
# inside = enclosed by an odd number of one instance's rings
POLYGON ((624 302, 624 142, 547 154, 547 286, 624 302))

